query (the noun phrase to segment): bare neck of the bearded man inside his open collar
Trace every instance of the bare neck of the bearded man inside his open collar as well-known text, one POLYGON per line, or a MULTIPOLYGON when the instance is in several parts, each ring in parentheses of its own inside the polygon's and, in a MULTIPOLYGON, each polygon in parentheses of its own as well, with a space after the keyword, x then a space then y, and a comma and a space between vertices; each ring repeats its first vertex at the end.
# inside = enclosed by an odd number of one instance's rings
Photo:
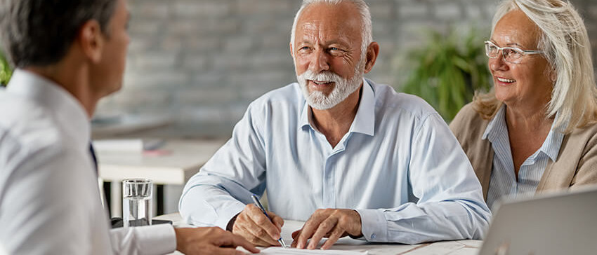
POLYGON ((362 84, 358 90, 348 95, 344 101, 327 110, 313 111, 313 122, 317 130, 322 132, 329 144, 335 147, 352 125, 359 109, 362 84))

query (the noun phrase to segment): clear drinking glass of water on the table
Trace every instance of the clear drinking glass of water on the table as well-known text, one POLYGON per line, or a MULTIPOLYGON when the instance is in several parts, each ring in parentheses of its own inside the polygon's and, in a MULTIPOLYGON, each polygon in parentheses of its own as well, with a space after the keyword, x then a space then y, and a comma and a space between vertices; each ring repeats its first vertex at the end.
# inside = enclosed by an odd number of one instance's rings
POLYGON ((150 179, 122 181, 122 224, 125 228, 151 225, 152 189, 150 179))

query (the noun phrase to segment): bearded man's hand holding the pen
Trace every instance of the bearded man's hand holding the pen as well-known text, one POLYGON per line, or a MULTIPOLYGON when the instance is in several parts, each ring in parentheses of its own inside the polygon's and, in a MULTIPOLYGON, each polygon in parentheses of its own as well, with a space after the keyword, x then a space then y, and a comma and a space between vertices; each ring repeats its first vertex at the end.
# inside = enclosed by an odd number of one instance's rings
POLYGON ((282 233, 284 220, 273 212, 268 212, 268 215, 272 221, 261 212, 261 209, 249 204, 236 217, 232 233, 244 237, 256 246, 280 246, 277 240, 282 233))

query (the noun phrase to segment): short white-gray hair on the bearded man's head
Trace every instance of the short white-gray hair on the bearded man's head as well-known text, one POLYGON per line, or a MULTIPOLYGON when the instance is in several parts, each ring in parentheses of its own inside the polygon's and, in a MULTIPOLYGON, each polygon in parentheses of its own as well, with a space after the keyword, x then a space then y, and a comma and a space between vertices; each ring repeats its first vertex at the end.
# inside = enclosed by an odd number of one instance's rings
POLYGON ((296 25, 298 23, 298 18, 301 16, 305 8, 310 6, 311 4, 340 4, 344 1, 348 1, 353 3, 357 10, 360 13, 361 18, 361 55, 365 55, 367 51, 367 47, 370 43, 373 42, 373 32, 372 32, 372 22, 371 22, 371 12, 369 11, 369 6, 364 0, 303 0, 303 4, 301 8, 298 9, 296 15, 294 16, 294 23, 292 24, 292 31, 290 34, 290 43, 291 46, 294 48, 294 36, 296 34, 296 25))

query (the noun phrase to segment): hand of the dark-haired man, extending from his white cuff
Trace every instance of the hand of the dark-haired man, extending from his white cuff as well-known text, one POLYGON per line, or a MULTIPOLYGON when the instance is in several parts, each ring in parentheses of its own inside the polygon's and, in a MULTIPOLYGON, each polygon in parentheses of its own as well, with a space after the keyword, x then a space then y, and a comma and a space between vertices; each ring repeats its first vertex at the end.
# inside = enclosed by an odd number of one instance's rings
POLYGON ((174 228, 174 231, 176 249, 183 254, 244 254, 236 250, 237 246, 259 253, 247 240, 218 227, 174 228))

